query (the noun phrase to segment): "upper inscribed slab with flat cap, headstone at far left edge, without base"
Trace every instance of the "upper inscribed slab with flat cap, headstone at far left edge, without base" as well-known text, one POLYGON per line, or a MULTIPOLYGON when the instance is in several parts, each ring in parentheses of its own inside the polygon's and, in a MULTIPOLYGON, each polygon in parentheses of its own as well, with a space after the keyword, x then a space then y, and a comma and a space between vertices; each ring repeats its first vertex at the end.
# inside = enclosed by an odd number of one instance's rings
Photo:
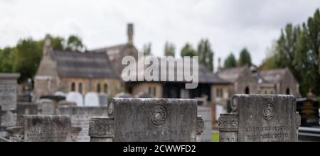
POLYGON ((16 110, 17 79, 19 74, 0 74, 1 111, 16 110))

